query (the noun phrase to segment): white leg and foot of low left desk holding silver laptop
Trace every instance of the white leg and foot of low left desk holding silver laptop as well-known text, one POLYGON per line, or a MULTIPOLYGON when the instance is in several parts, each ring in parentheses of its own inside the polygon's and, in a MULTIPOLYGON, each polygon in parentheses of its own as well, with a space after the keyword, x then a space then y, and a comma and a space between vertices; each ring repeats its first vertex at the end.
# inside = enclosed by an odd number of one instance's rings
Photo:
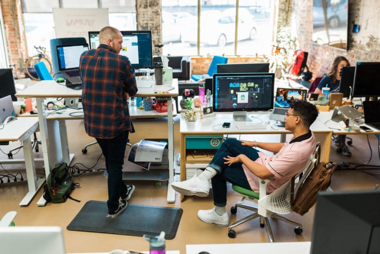
POLYGON ((45 182, 44 179, 36 179, 35 166, 34 166, 34 158, 32 151, 32 143, 30 137, 22 141, 24 158, 25 158, 25 167, 26 167, 26 177, 28 181, 29 191, 23 198, 23 200, 19 203, 19 205, 28 205, 34 195, 37 193, 38 189, 45 182))

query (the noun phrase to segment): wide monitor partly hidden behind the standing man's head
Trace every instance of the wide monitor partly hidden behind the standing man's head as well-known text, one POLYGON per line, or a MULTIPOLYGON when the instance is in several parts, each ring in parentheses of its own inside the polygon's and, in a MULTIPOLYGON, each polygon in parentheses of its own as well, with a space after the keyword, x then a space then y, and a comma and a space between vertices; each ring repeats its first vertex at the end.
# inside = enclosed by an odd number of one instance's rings
MULTIPOLYGON (((120 31, 123 36, 121 55, 129 58, 133 68, 153 68, 152 31, 120 31)), ((99 46, 99 31, 88 32, 90 49, 99 46)))

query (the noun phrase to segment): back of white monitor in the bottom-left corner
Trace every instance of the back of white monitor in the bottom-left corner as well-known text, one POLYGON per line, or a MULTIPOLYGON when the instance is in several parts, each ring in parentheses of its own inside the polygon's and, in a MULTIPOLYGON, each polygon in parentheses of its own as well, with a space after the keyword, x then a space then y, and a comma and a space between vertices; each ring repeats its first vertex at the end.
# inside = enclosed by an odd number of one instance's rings
POLYGON ((57 226, 0 227, 1 253, 65 254, 62 228, 57 226))

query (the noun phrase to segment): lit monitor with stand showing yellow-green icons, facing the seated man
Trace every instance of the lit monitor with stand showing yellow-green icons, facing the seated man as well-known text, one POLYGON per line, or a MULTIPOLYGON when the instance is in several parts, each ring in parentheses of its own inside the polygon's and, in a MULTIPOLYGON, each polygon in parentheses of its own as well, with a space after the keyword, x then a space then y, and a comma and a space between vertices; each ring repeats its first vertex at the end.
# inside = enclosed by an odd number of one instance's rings
POLYGON ((216 73, 213 75, 213 110, 233 112, 234 119, 248 111, 273 108, 274 73, 216 73))

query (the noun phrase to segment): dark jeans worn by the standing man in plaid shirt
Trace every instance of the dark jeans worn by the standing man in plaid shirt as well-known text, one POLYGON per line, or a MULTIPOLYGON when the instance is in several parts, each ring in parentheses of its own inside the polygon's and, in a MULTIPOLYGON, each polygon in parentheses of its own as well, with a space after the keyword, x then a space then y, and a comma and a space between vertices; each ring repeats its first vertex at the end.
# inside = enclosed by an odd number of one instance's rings
POLYGON ((124 154, 126 152, 129 131, 123 131, 113 138, 96 138, 106 159, 108 171, 108 209, 114 211, 119 206, 119 198, 126 193, 123 182, 124 154))

